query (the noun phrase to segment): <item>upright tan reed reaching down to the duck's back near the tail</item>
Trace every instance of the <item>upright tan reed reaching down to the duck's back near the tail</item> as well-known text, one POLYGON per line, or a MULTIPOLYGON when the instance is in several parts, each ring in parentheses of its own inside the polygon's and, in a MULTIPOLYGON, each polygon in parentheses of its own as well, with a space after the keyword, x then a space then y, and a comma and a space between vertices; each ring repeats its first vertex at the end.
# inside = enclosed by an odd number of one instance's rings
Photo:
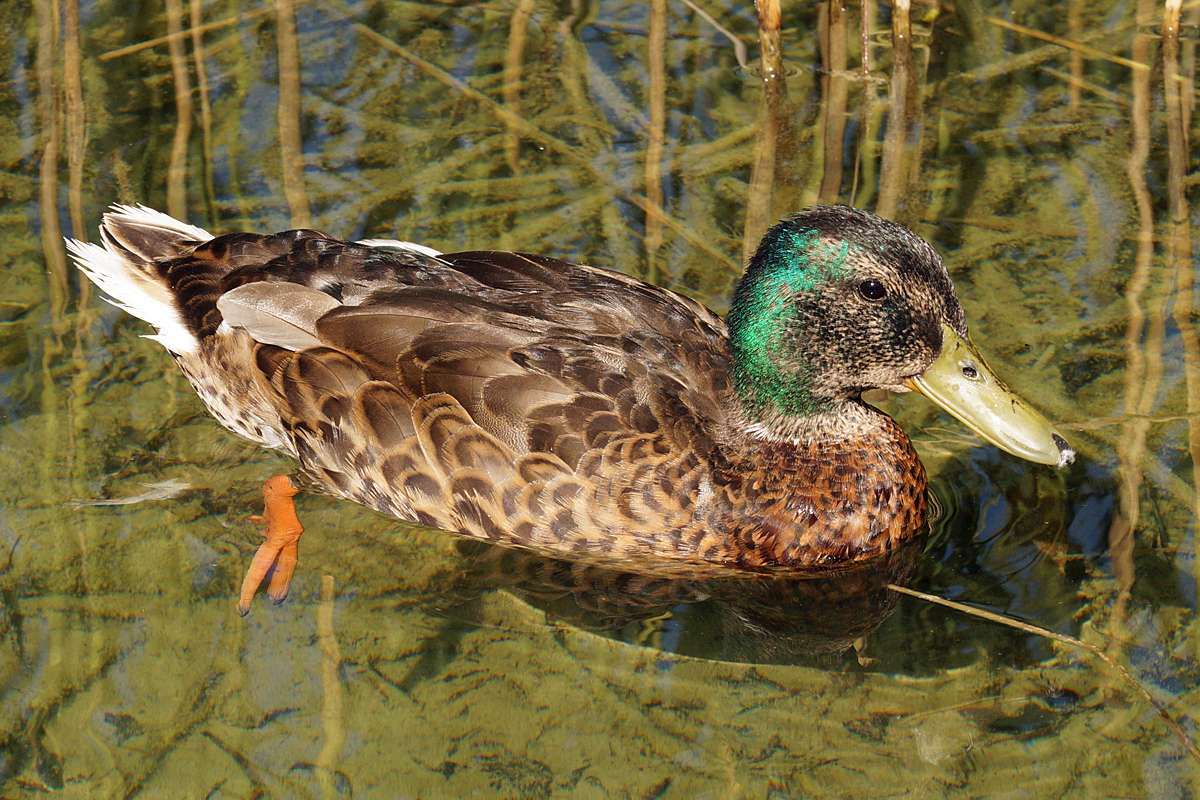
POLYGON ((283 197, 292 211, 292 225, 312 225, 308 194, 304 187, 304 142, 300 139, 300 46, 296 38, 292 0, 276 0, 275 44, 280 65, 280 160, 283 167, 283 197))

